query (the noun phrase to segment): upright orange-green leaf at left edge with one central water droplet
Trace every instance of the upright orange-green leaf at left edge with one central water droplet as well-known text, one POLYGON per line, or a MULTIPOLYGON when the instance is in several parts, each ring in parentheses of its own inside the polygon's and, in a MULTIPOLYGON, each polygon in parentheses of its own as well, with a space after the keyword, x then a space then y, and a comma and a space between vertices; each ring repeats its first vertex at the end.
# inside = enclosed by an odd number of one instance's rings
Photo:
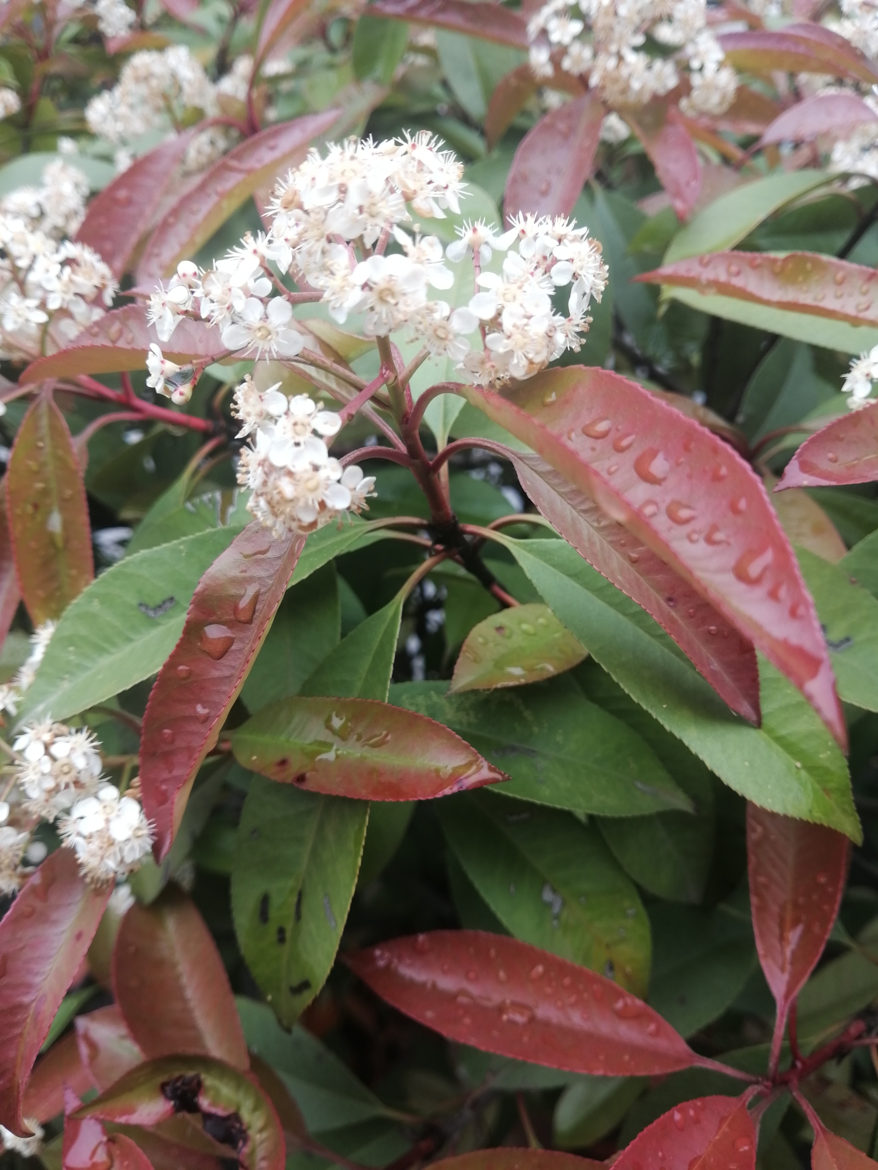
POLYGON ((6 503, 19 589, 40 625, 61 617, 95 574, 82 469, 49 393, 40 394, 15 435, 6 503))

